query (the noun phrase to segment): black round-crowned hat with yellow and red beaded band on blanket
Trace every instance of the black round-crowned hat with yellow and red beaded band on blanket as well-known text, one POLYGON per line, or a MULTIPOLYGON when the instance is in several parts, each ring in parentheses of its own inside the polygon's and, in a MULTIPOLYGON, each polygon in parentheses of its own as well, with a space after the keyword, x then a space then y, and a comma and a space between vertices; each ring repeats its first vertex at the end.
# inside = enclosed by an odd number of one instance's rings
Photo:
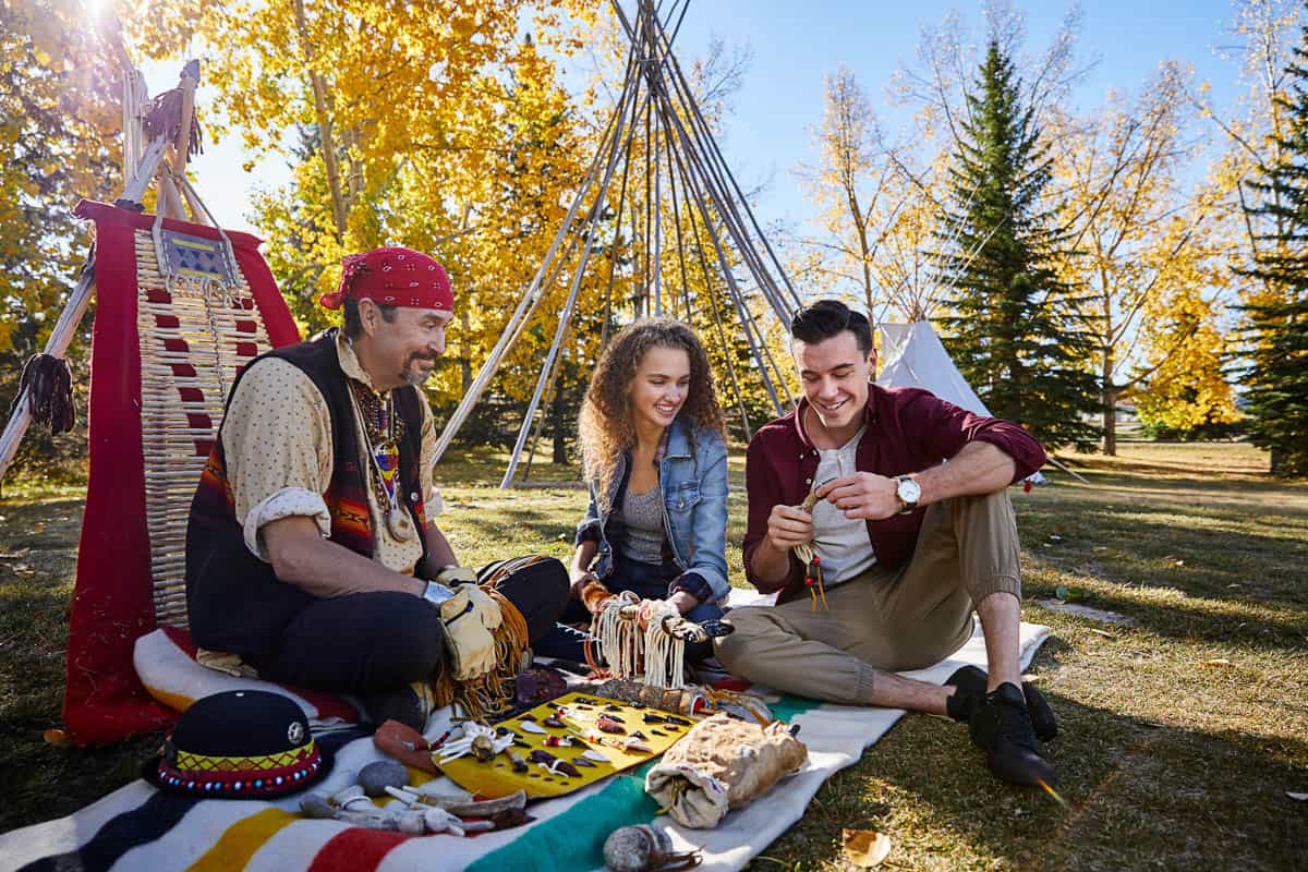
POLYGON ((141 778, 170 794, 259 799, 303 790, 331 765, 331 752, 314 741, 293 701, 267 690, 228 690, 182 714, 141 778))

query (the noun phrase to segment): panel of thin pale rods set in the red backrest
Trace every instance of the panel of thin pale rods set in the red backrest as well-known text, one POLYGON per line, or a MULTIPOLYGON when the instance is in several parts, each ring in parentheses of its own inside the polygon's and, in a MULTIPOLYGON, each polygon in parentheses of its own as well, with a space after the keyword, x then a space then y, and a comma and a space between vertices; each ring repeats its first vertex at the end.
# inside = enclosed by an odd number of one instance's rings
POLYGON ((228 292, 160 272, 149 231, 136 231, 136 323, 141 346, 141 451, 154 617, 187 626, 186 522, 222 422, 226 391, 272 349, 245 276, 228 292))

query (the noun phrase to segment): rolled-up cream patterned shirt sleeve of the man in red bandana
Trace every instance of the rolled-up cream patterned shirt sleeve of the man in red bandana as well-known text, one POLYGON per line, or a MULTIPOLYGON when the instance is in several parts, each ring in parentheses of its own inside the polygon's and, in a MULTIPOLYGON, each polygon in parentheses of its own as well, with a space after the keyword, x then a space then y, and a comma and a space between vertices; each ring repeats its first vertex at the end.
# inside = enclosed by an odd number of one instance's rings
POLYGON ((222 422, 222 451, 251 553, 268 560, 260 531, 283 518, 313 518, 331 535, 322 498, 331 484, 331 413, 301 369, 266 358, 245 373, 222 422))

